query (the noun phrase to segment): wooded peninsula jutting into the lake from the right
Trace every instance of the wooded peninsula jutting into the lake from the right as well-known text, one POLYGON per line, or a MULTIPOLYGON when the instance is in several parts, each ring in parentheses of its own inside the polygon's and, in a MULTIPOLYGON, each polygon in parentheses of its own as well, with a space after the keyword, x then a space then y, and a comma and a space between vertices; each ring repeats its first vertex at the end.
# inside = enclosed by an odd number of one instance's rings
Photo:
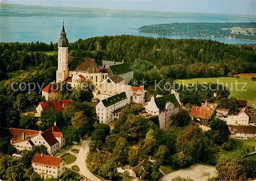
POLYGON ((256 40, 256 22, 176 22, 148 25, 139 28, 142 33, 189 37, 230 37, 256 40))

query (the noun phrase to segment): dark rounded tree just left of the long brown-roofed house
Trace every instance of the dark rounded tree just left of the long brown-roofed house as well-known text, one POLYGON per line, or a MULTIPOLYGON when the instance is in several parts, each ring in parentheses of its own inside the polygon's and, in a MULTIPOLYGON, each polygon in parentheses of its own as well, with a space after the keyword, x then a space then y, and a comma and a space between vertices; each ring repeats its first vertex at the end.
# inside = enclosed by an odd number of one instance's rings
POLYGON ((224 120, 215 119, 210 122, 210 134, 214 142, 218 145, 222 145, 228 141, 230 131, 227 123, 224 120))

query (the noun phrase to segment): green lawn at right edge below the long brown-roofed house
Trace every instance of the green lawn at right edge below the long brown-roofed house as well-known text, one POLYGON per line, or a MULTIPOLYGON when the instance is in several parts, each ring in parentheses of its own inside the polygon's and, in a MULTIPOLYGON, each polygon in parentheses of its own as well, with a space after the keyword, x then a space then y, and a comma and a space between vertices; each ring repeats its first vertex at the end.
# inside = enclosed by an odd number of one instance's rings
MULTIPOLYGON (((249 149, 249 153, 255 151, 256 139, 248 139, 248 140, 240 140, 240 145, 231 151, 221 150, 220 155, 226 156, 228 159, 234 159, 236 157, 241 157, 246 154, 247 149, 249 149)), ((256 160, 256 155, 248 156, 246 159, 256 160)))

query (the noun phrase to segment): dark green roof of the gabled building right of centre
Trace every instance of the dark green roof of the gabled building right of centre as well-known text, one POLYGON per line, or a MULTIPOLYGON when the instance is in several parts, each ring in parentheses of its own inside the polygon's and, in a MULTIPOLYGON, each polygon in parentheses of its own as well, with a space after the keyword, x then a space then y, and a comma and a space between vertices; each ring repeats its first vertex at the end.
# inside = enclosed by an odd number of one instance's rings
POLYGON ((175 106, 180 105, 174 94, 155 98, 155 103, 159 108, 159 111, 165 110, 165 105, 167 102, 174 103, 175 106))

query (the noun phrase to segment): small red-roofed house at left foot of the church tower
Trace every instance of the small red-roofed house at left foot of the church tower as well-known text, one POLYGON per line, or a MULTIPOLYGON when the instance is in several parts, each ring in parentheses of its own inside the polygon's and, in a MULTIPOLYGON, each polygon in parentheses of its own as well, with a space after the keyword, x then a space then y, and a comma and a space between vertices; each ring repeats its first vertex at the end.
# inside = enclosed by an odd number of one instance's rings
POLYGON ((42 89, 42 96, 45 96, 46 101, 54 101, 59 99, 59 85, 51 82, 42 89))

